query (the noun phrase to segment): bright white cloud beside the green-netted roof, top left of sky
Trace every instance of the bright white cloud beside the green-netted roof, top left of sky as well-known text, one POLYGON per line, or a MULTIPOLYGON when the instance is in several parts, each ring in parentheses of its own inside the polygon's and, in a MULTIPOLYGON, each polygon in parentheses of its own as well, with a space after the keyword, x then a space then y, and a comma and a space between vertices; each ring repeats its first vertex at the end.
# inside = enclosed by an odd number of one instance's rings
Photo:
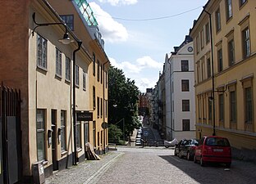
POLYGON ((98 21, 98 28, 103 35, 103 39, 110 43, 124 42, 128 38, 128 32, 125 26, 112 19, 106 11, 95 2, 90 2, 89 6, 94 11, 94 16, 98 21))

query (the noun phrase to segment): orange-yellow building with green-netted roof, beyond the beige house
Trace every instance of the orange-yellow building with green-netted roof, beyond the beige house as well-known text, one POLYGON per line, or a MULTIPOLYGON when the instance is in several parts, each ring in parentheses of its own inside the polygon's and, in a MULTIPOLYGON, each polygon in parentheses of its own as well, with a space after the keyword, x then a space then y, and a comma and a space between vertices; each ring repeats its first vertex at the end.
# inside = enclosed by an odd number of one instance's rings
POLYGON ((86 0, 48 0, 88 50, 92 63, 89 65, 89 110, 94 114, 89 123, 89 142, 98 154, 107 150, 107 70, 110 65, 104 52, 104 41, 98 30, 97 20, 86 0), (68 7, 68 8, 66 8, 68 7))

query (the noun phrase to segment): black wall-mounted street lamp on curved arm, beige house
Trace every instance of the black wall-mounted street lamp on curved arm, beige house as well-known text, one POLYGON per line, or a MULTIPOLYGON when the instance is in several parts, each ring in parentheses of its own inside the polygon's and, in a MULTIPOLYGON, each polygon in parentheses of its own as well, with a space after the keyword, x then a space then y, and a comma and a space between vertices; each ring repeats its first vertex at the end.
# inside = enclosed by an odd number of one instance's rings
POLYGON ((67 27, 66 27, 66 24, 65 24, 65 23, 63 23, 63 22, 37 23, 37 22, 35 21, 35 12, 33 13, 32 18, 33 18, 34 24, 36 25, 36 26, 34 27, 33 31, 32 31, 32 35, 33 35, 33 36, 34 36, 34 31, 35 31, 35 29, 37 29, 37 28, 40 27, 40 26, 64 25, 64 26, 65 26, 65 34, 63 35, 63 38, 59 39, 58 41, 59 41, 60 43, 65 44, 65 45, 74 42, 74 40, 71 40, 71 38, 69 38, 69 35, 68 35, 68 33, 67 33, 67 27))

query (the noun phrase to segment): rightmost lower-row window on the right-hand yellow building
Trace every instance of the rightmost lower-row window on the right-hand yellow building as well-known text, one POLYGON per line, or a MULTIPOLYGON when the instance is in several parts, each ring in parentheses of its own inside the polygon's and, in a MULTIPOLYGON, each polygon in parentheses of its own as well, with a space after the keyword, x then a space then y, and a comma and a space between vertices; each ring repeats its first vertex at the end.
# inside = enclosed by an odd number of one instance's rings
POLYGON ((245 123, 253 121, 253 99, 252 88, 245 88, 245 123))

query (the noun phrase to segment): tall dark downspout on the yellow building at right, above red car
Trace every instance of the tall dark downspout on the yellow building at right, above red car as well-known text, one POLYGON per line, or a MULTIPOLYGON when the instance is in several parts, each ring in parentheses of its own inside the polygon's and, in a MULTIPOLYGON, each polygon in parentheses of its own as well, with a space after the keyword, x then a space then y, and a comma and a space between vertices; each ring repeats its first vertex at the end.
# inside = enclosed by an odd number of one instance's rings
POLYGON ((211 99, 213 100, 213 136, 216 135, 215 131, 215 95, 214 95, 214 70, 213 70, 213 30, 212 30, 212 15, 205 10, 205 7, 203 7, 203 11, 206 12, 209 16, 209 26, 210 26, 210 39, 211 39, 211 64, 212 64, 212 96, 211 99))

